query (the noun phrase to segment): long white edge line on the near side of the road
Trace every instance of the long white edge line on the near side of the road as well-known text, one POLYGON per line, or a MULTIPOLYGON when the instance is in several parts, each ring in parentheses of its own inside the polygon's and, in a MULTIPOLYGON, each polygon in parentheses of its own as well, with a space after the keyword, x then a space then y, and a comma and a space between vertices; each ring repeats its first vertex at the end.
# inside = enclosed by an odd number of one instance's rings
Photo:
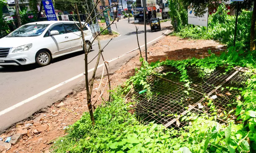
MULTIPOLYGON (((166 29, 166 32, 165 32, 164 34, 166 34, 167 32, 168 32, 168 29, 166 29)), ((157 40, 157 39, 159 39, 159 38, 161 38, 161 37, 163 37, 163 36, 164 36, 164 35, 161 35, 160 37, 157 37, 156 39, 154 39, 154 40, 152 40, 152 41, 150 41, 150 42, 147 42, 147 44, 149 44, 149 43, 151 43, 151 42, 153 42, 153 41, 155 41, 155 40, 157 40)), ((140 47, 143 47, 143 46, 145 46, 145 44, 142 45, 142 46, 140 46, 140 47)), ((138 48, 139 48, 139 47, 137 47, 137 48, 134 49, 134 50, 137 50, 138 48)), ((133 52, 134 50, 131 50, 131 51, 129 51, 129 52, 127 52, 127 53, 125 53, 125 54, 119 56, 119 57, 116 57, 116 58, 114 58, 114 59, 110 59, 110 60, 107 60, 107 61, 108 61, 109 63, 110 63, 110 62, 113 62, 114 60, 119 59, 120 57, 123 57, 123 56, 127 55, 128 53, 133 52)), ((103 63, 100 64, 100 65, 98 65, 97 68, 100 68, 100 67, 102 67, 102 66, 103 66, 103 63)), ((88 70, 88 72, 91 72, 91 71, 93 71, 93 70, 94 70, 94 68, 91 68, 90 70, 88 70)), ((6 108, 6 109, 0 111, 0 116, 6 114, 6 113, 9 112, 9 111, 14 110, 14 109, 17 108, 17 107, 20 107, 20 106, 24 105, 25 103, 28 103, 28 102, 34 100, 35 98, 38 98, 38 97, 40 97, 40 96, 42 96, 42 95, 44 95, 44 94, 46 94, 46 93, 48 93, 48 92, 50 92, 50 91, 52 91, 52 90, 55 90, 55 89, 57 89, 58 87, 67 84, 68 82, 71 82, 71 81, 73 81, 73 80, 75 80, 75 79, 77 79, 77 78, 83 76, 84 73, 85 73, 85 72, 83 72, 83 73, 81 73, 81 74, 78 74, 77 76, 74 76, 74 77, 72 77, 72 78, 70 78, 70 79, 68 79, 68 80, 66 80, 66 81, 63 81, 63 82, 59 83, 58 85, 54 85, 53 87, 51 87, 51 88, 49 88, 49 89, 46 89, 46 90, 44 90, 44 91, 42 91, 42 92, 40 92, 40 93, 38 93, 38 94, 36 94, 36 95, 30 97, 30 98, 27 98, 27 99, 23 100, 23 101, 20 102, 20 103, 17 103, 17 104, 15 104, 15 105, 11 106, 11 107, 8 107, 8 108, 6 108)), ((57 90, 57 91, 58 91, 58 90, 57 90)))

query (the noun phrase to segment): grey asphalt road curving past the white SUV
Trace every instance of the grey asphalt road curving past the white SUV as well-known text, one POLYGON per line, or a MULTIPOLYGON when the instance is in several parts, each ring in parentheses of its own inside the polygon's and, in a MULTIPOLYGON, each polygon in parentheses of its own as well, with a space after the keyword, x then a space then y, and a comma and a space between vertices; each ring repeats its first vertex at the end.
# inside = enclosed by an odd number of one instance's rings
MULTIPOLYGON (((116 25, 117 28, 115 25, 111 28, 121 35, 105 47, 103 52, 105 60, 118 57, 138 47, 134 24, 128 24, 127 19, 122 19, 116 22, 116 25)), ((147 42, 154 40, 147 46, 156 42, 155 39, 166 32, 166 29, 151 32, 150 27, 147 27, 147 42)), ((138 29, 138 38, 140 46, 144 45, 144 27, 141 25, 138 29)), ((102 40, 101 46, 104 47, 107 42, 109 40, 102 40)), ((88 54, 89 61, 97 55, 98 50, 95 42, 93 51, 88 54)), ((110 62, 110 71, 119 69, 137 54, 138 51, 134 51, 110 62)), ((95 61, 96 59, 88 65, 88 69, 94 68, 95 61)), ((38 67, 36 64, 12 69, 0 67, 0 132, 62 99, 72 90, 83 87, 84 76, 81 74, 85 72, 84 65, 84 54, 73 53, 56 58, 53 63, 45 67, 38 67), (72 78, 74 76, 76 77, 72 78)), ((101 68, 98 68, 97 72, 100 73, 101 68)), ((89 73, 90 76, 91 74, 92 72, 89 73)))

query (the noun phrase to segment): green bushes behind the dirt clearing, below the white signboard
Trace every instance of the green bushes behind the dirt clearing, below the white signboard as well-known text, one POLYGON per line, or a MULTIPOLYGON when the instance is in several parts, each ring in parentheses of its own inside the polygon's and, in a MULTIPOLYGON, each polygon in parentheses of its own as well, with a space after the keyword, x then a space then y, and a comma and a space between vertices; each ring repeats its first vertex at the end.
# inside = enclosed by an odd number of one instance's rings
MULTIPOLYGON (((207 27, 187 25, 173 33, 183 38, 192 39, 213 39, 220 41, 227 46, 233 45, 235 32, 235 16, 227 15, 224 5, 220 5, 217 12, 209 15, 207 27)), ((236 44, 240 48, 248 49, 250 46, 251 12, 244 11, 238 16, 236 44)))

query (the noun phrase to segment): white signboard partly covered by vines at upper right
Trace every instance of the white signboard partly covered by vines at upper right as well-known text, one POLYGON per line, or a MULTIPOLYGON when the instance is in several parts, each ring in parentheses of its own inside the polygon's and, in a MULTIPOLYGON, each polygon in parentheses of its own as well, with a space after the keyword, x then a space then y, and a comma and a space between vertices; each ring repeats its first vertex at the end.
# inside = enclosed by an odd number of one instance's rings
POLYGON ((208 25, 208 8, 205 9, 207 11, 202 17, 195 16, 194 8, 192 5, 188 7, 188 23, 193 25, 200 25, 207 27, 208 25))

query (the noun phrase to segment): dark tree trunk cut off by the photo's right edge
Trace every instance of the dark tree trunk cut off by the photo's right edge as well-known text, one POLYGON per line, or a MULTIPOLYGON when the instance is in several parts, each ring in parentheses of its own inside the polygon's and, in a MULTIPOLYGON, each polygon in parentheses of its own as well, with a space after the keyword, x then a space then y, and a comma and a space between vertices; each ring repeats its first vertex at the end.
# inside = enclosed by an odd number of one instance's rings
POLYGON ((255 22, 256 22, 256 1, 254 1, 253 7, 253 14, 252 14, 252 21, 251 21, 251 42, 250 42, 250 50, 255 50, 255 22))

